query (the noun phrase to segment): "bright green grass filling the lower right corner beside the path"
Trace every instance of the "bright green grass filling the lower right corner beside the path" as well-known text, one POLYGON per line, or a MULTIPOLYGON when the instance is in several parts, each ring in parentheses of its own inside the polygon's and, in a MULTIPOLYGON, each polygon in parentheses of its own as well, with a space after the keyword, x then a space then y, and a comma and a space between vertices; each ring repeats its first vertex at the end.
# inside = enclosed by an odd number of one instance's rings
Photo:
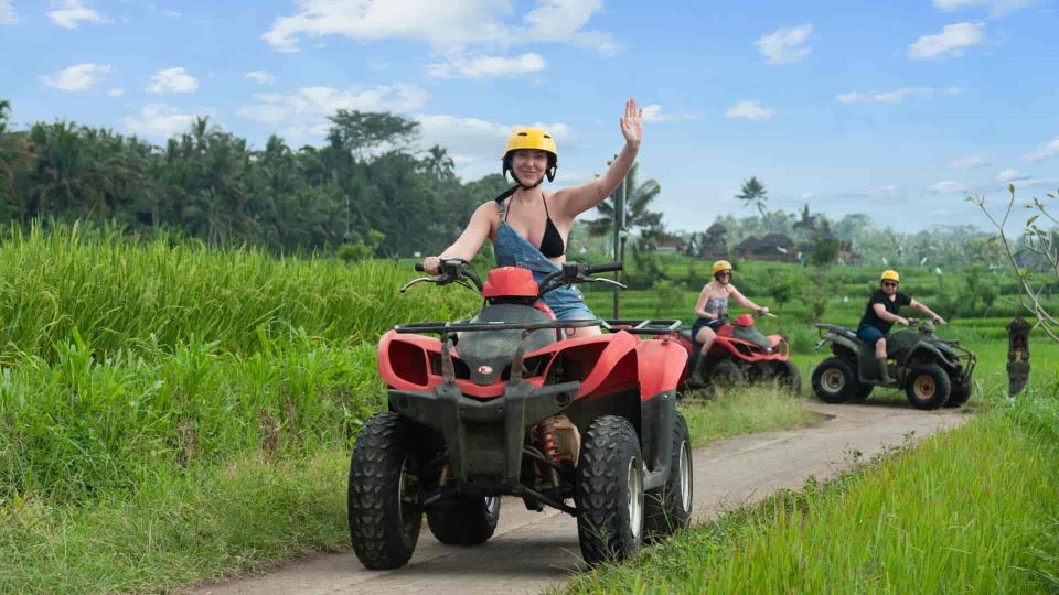
POLYGON ((693 528, 574 593, 1059 589, 1059 397, 997 408, 826 487, 693 528))

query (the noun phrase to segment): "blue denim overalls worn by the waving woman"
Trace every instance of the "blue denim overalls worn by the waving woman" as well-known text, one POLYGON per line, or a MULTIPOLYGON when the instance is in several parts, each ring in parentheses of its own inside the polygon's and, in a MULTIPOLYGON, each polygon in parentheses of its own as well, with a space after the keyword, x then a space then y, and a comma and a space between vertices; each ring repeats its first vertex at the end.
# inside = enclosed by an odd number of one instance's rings
MULTIPOLYGON (((541 250, 530 244, 530 240, 518 235, 510 225, 504 213, 504 203, 496 203, 496 210, 502 215, 496 235, 493 238, 493 253, 496 255, 498 267, 521 267, 533 272, 533 280, 537 283, 549 273, 563 270, 558 264, 547 259, 541 250)), ((569 321, 575 318, 596 318, 592 311, 585 305, 585 295, 577 285, 564 285, 549 291, 541 299, 548 304, 555 316, 569 321)))

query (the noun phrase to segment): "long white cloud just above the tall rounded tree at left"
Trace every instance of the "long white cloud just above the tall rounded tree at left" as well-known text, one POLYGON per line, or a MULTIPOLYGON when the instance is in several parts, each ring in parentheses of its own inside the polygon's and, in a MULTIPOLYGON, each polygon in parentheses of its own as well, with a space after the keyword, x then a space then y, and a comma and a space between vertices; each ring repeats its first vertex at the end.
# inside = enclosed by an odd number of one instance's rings
MULTIPOLYGON (((411 85, 383 85, 340 91, 331 87, 302 87, 291 95, 259 94, 256 105, 235 113, 265 123, 289 122, 308 130, 327 123, 339 109, 407 112, 422 107, 427 94, 411 85)), ((325 129, 325 128, 324 128, 325 129)))

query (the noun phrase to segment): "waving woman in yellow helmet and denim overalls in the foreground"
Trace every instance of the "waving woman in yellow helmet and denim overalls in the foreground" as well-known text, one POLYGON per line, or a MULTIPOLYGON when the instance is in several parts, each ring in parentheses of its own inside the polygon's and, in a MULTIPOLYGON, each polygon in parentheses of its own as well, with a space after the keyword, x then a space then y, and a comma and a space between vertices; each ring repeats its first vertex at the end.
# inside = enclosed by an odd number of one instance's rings
MULTIPOLYGON (((424 270, 437 274, 442 258, 472 260, 486 238, 493 242, 498 267, 530 269, 538 283, 549 273, 561 270, 574 218, 610 196, 637 160, 643 138, 643 110, 633 99, 625 101, 621 133, 625 144, 603 175, 581 186, 548 193, 538 186, 545 177, 548 182, 555 178, 558 163, 555 139, 541 128, 516 129, 507 140, 503 156, 503 173, 506 176, 511 172, 515 185, 479 206, 463 234, 442 256, 424 259, 424 270)), ((559 320, 596 317, 585 305, 581 292, 573 285, 556 289, 542 300, 559 320)), ((598 334, 598 326, 588 326, 575 329, 570 336, 598 334)))

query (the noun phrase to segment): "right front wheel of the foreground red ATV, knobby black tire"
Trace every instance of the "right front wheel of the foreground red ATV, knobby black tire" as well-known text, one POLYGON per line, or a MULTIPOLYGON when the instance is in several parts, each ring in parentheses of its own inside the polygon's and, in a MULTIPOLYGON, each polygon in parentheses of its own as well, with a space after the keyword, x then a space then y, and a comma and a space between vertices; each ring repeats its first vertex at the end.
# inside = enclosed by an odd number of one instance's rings
POLYGON ((643 538, 644 465, 637 431, 605 415, 588 426, 577 463, 577 538, 589 566, 624 560, 643 538))

